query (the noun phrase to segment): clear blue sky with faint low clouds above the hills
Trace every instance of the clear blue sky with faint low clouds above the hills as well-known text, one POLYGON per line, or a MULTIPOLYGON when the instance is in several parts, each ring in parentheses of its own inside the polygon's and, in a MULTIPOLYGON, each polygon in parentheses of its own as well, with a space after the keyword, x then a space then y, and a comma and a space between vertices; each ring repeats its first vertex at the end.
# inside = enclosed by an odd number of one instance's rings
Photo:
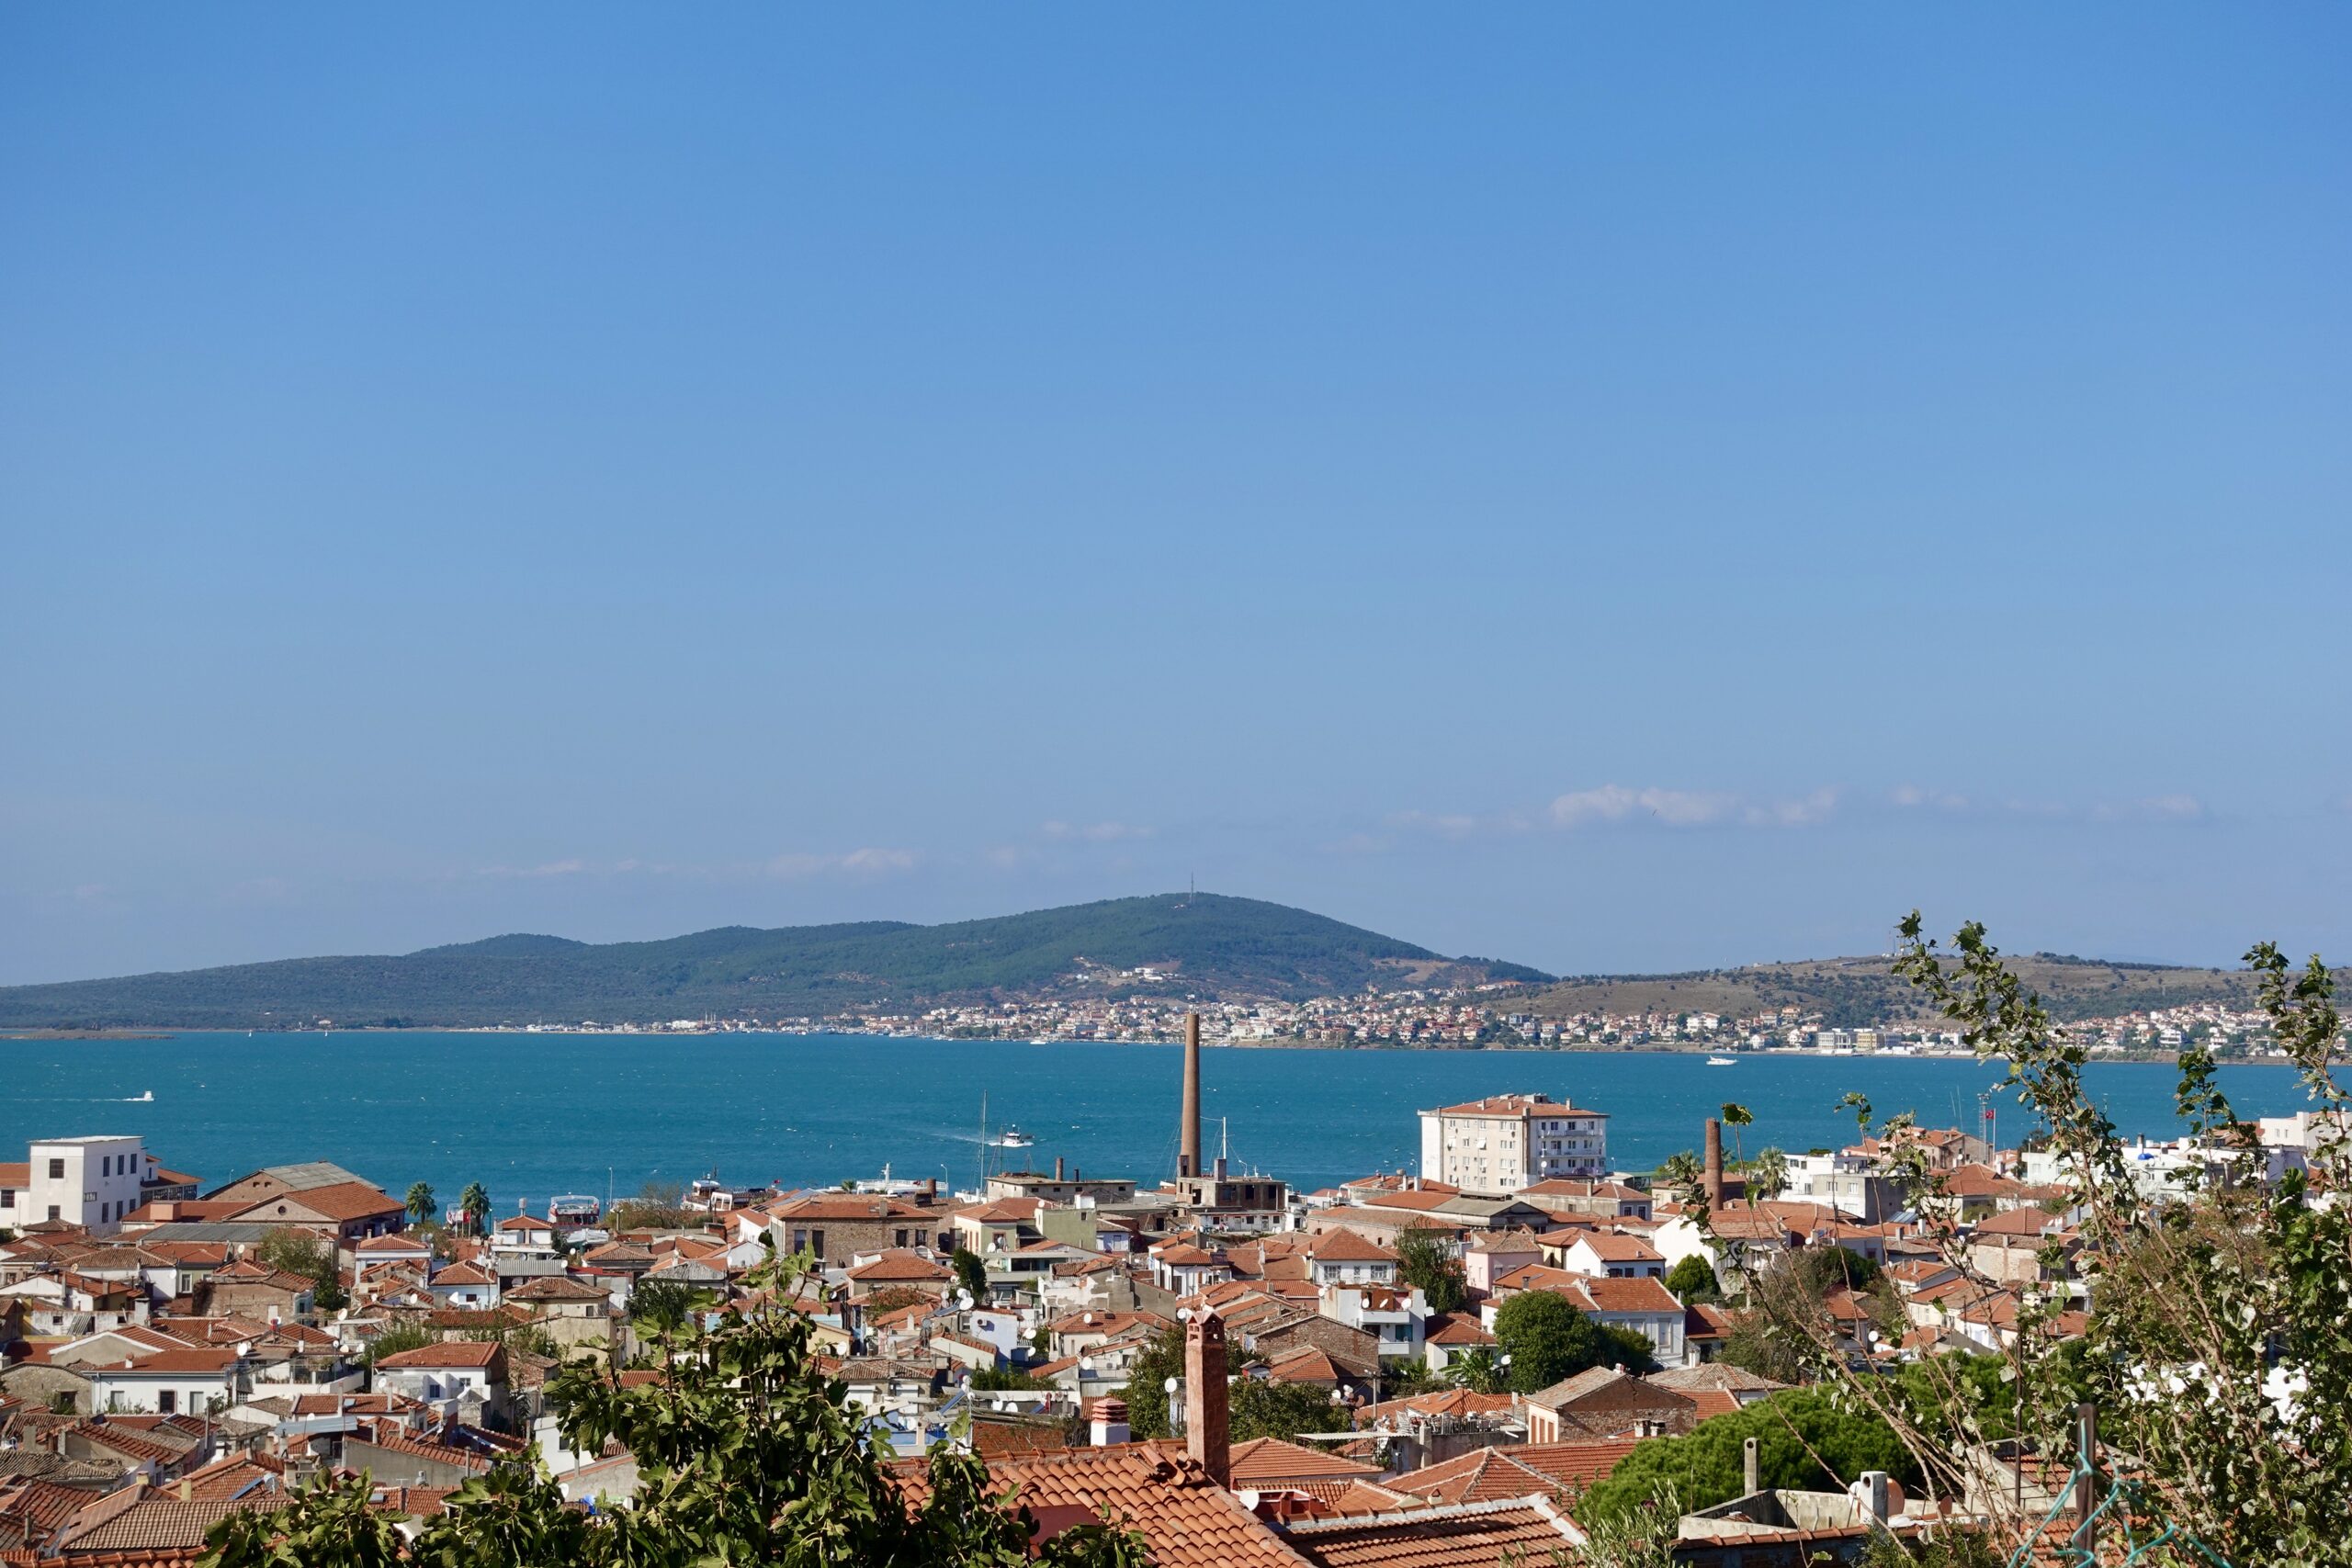
POLYGON ((12 7, 0 983, 2352 950, 2352 12, 12 7))

